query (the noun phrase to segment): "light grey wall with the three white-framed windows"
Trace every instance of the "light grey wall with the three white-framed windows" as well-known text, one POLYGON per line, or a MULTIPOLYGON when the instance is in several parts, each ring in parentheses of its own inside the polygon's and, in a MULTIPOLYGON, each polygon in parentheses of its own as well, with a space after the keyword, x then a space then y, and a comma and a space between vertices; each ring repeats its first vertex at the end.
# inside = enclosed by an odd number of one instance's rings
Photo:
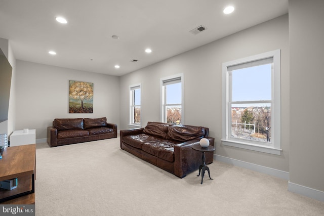
POLYGON ((159 121, 161 77, 184 73, 184 124, 210 128, 216 154, 289 171, 289 26, 288 15, 240 31, 120 78, 120 129, 129 123, 129 85, 142 83, 142 126, 159 121), (222 63, 281 50, 281 155, 223 146, 222 63))

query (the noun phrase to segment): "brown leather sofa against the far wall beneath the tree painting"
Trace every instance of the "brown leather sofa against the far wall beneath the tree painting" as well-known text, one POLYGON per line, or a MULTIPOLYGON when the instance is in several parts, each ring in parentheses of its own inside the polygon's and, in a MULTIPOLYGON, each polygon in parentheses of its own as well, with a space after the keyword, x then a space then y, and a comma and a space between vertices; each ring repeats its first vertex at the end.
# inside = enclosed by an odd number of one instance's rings
POLYGON ((107 118, 56 118, 47 128, 50 147, 117 137, 117 124, 107 118))

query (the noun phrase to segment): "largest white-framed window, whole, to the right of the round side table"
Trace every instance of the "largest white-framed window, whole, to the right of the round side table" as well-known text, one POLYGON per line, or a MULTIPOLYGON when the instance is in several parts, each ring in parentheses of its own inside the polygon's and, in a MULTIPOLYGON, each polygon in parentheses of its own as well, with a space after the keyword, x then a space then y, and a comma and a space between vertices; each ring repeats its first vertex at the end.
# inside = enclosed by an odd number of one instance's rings
POLYGON ((280 50, 223 63, 223 145, 280 155, 280 50))

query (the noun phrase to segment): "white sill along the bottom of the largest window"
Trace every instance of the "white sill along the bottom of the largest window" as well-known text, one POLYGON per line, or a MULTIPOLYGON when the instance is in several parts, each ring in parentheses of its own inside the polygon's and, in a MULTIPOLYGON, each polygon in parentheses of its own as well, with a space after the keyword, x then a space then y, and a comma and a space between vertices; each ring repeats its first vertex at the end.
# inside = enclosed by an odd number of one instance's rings
POLYGON ((222 144, 224 146, 232 146, 232 147, 237 147, 237 148, 242 148, 242 149, 248 149, 248 150, 253 150, 253 151, 258 151, 258 152, 264 152, 264 153, 269 153, 269 154, 275 154, 275 155, 280 155, 282 149, 276 149, 271 146, 261 146, 261 145, 255 145, 255 144, 250 144, 250 143, 245 143, 245 142, 237 142, 237 141, 232 141, 232 140, 221 140, 222 144))

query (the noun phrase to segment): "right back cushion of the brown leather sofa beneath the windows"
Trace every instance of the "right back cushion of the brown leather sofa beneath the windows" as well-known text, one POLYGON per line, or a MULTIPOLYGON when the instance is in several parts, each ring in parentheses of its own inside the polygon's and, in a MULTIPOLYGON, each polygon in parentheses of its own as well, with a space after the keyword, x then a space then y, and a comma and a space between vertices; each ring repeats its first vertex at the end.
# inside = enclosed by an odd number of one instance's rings
POLYGON ((178 124, 169 126, 166 139, 186 142, 193 139, 200 139, 204 136, 204 127, 178 124))

